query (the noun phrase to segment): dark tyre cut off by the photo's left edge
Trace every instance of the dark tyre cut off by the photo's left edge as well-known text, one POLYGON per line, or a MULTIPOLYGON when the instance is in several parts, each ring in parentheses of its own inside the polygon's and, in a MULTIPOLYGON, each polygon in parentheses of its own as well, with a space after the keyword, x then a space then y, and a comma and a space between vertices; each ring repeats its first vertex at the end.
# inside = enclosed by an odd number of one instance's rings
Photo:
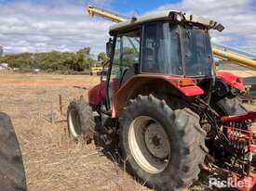
POLYGON ((19 142, 5 113, 0 113, 0 189, 27 190, 19 142))

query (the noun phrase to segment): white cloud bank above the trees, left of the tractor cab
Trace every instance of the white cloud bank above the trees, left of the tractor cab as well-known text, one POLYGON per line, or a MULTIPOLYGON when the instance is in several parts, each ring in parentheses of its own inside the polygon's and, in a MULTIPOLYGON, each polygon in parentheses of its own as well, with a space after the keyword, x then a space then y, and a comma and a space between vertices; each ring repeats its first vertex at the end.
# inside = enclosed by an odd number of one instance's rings
POLYGON ((0 5, 0 45, 7 53, 77 51, 85 46, 93 53, 104 51, 111 22, 89 18, 85 4, 61 2, 58 6, 25 1, 0 5))

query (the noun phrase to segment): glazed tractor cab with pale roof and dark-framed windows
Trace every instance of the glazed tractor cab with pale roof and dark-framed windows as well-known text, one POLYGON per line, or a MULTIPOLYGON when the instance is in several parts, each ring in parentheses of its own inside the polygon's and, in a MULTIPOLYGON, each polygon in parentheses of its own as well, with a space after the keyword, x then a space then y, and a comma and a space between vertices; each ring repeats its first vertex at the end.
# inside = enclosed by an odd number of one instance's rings
MULTIPOLYGON (((221 24, 177 11, 161 11, 115 24, 107 43, 109 57, 107 96, 135 75, 179 79, 211 79, 213 57, 209 30, 221 24)), ((194 81, 193 80, 193 81, 194 81)))

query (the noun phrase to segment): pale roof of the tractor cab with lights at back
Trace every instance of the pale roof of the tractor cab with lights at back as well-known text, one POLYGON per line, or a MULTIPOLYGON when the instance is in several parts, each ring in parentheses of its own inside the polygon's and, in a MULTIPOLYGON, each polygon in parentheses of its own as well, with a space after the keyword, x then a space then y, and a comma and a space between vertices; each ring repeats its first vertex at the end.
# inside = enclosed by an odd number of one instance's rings
MULTIPOLYGON (((177 11, 177 10, 163 10, 163 11, 156 11, 138 18, 132 18, 132 19, 128 19, 126 21, 117 23, 110 27, 110 34, 113 34, 114 32, 127 31, 129 29, 132 29, 146 22, 160 21, 160 20, 191 22, 191 23, 204 25, 208 29, 216 29, 216 27, 220 25, 214 20, 205 19, 193 14, 186 14, 184 12, 177 11)), ((222 30, 223 29, 224 28, 222 26, 222 30)))

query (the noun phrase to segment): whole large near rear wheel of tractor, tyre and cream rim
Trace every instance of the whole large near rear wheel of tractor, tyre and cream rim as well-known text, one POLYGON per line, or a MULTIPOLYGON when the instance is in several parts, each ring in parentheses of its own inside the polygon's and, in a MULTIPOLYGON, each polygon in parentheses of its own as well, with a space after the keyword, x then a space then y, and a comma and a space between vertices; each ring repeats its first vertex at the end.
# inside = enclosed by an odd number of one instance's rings
POLYGON ((156 190, 182 190, 198 178, 208 148, 199 117, 155 96, 130 100, 120 118, 120 148, 128 171, 156 190))

